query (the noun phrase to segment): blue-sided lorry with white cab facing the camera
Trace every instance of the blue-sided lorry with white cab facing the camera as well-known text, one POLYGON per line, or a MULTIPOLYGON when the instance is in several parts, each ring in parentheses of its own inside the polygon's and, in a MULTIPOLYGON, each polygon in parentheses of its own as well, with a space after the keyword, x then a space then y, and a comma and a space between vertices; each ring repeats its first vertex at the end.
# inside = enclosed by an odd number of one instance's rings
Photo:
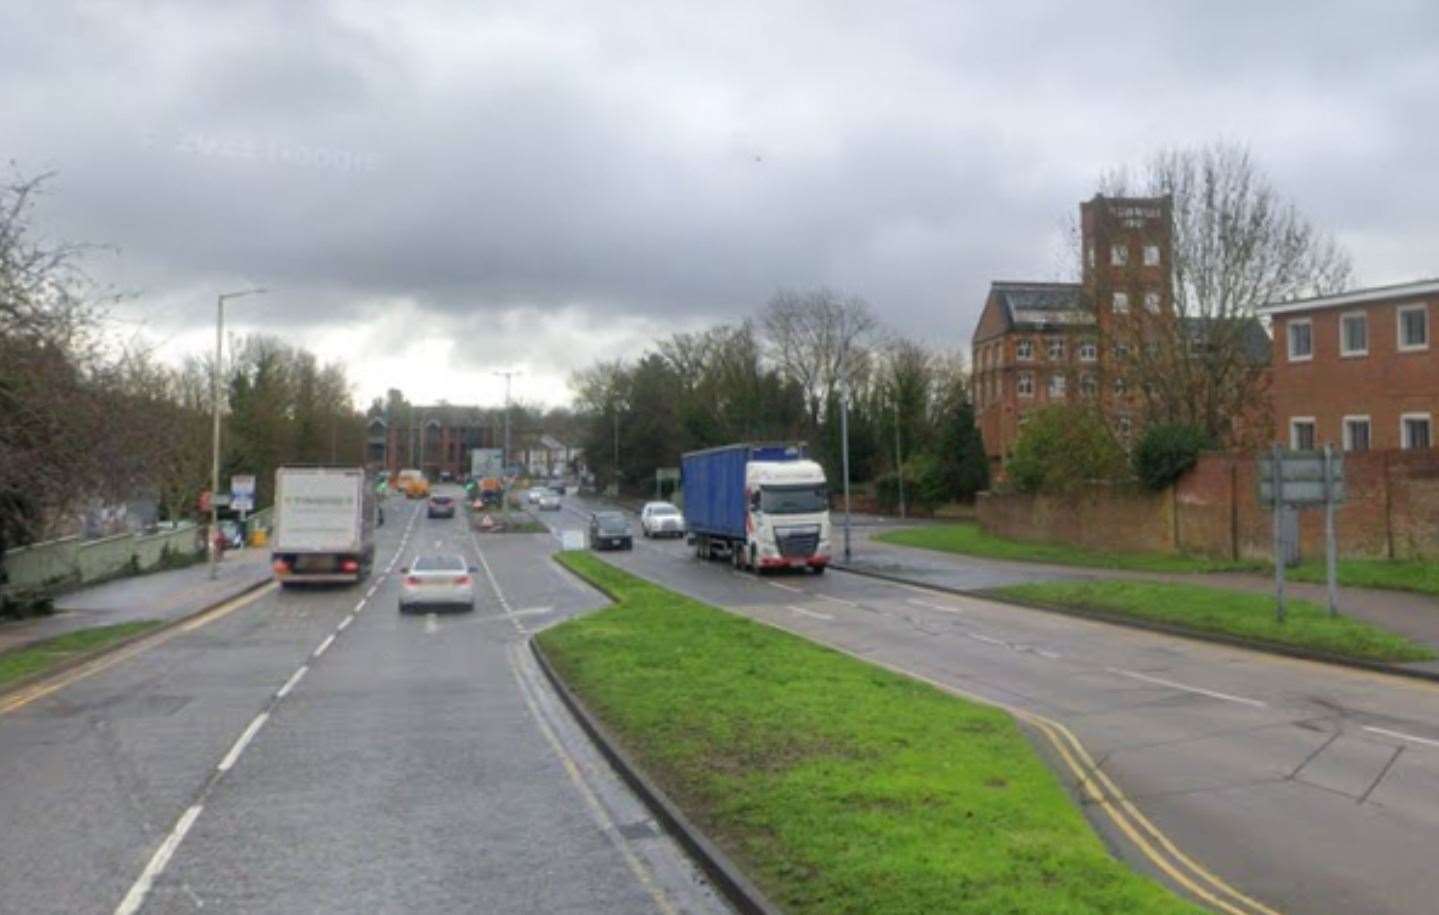
POLYGON ((681 458, 685 525, 695 555, 735 568, 829 565, 825 469, 799 445, 747 443, 681 458))

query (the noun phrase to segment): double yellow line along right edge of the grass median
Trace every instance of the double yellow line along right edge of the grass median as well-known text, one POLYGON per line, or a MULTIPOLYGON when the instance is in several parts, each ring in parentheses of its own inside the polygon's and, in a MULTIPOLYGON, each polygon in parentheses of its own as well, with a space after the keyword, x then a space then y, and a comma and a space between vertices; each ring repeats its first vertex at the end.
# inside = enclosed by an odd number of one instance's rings
POLYGON ((1160 827, 1140 813, 1140 809, 1124 796, 1120 786, 1114 784, 1114 781, 1099 770, 1094 757, 1091 757, 1089 751, 1079 742, 1079 738, 1058 721, 1045 718, 1043 715, 1027 709, 997 702, 989 696, 981 696, 957 686, 951 686, 950 683, 924 676, 922 673, 915 673, 914 670, 907 670, 898 665, 856 655, 848 647, 835 645, 827 639, 819 639, 807 632, 791 630, 777 623, 770 623, 755 617, 748 619, 781 632, 787 632, 793 636, 816 642, 856 660, 928 683, 935 689, 960 696, 961 699, 968 699, 980 705, 989 705, 990 708, 1009 712, 1019 721, 1023 721, 1045 735, 1045 739, 1053 745, 1065 767, 1073 773, 1075 778, 1079 781, 1085 797, 1088 797, 1095 807, 1102 810, 1105 816, 1108 816, 1109 820, 1120 829, 1120 832, 1122 832, 1134 845, 1134 847, 1137 847, 1144 857, 1147 857, 1177 886, 1181 886, 1186 892, 1191 893, 1196 899, 1206 902, 1213 909, 1227 912, 1229 915, 1279 915, 1275 909, 1239 892, 1226 883, 1217 873, 1209 870, 1189 855, 1184 855, 1184 852, 1181 852, 1179 846, 1176 846, 1174 842, 1160 830, 1160 827))

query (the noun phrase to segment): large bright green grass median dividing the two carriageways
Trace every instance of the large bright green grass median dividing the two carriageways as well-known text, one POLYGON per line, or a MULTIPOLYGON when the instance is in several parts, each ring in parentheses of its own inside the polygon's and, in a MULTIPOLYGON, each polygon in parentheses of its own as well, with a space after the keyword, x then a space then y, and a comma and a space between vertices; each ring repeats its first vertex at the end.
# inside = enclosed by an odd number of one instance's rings
POLYGON ((1014 721, 636 578, 537 636, 789 912, 1191 912, 1111 857, 1014 721))

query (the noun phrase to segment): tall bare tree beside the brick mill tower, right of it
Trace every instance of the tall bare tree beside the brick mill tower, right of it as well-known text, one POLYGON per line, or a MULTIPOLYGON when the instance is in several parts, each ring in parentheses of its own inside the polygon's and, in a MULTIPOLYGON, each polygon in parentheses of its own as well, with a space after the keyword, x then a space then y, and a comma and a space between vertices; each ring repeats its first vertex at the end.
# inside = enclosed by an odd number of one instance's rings
POLYGON ((1340 292, 1348 255, 1261 173, 1248 150, 1215 144, 1166 150, 1131 176, 1111 171, 1107 196, 1167 196, 1173 209, 1174 321, 1138 321, 1121 368, 1147 422, 1203 429, 1236 443, 1236 419, 1268 433, 1265 302, 1340 292))

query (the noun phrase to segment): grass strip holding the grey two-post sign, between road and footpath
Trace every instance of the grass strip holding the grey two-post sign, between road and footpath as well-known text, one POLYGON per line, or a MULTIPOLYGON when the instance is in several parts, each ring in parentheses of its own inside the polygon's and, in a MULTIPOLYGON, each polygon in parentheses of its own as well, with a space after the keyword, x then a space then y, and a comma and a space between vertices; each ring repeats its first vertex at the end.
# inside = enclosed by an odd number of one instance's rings
POLYGON ((1278 623, 1274 597, 1164 581, 1036 581, 989 591, 1023 603, 1094 610, 1184 626, 1240 639, 1328 652, 1361 660, 1427 660, 1435 652, 1389 630, 1338 616, 1308 600, 1289 600, 1278 623))

